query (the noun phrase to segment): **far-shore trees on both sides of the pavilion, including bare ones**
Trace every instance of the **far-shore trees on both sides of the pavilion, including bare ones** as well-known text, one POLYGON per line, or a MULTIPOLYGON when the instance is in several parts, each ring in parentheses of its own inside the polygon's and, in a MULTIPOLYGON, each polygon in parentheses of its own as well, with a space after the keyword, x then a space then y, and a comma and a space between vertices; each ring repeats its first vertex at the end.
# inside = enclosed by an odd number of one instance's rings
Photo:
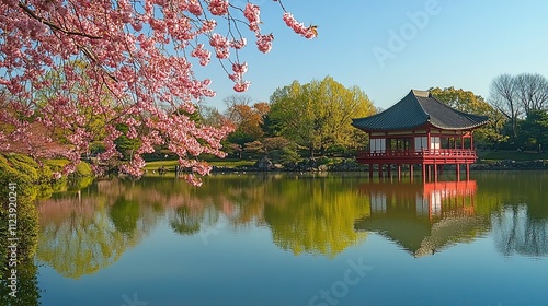
MULTIPOLYGON (((487 125, 475 131, 480 149, 543 151, 548 145, 548 81, 540 74, 501 74, 491 83, 489 99, 471 91, 431 87, 441 102, 457 110, 484 115, 487 125)), ((224 99, 219 113, 199 107, 201 120, 231 126, 224 142, 232 157, 269 156, 281 163, 302 157, 352 156, 367 145, 367 134, 351 126, 352 118, 381 111, 357 86, 345 87, 331 76, 278 87, 269 102, 246 95, 224 99)))

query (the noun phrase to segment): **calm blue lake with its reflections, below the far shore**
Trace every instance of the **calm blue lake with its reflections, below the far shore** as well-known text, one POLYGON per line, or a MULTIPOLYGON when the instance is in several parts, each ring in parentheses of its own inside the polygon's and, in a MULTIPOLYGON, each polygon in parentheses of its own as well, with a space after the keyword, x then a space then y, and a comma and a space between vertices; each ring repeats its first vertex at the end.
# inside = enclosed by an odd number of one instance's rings
POLYGON ((442 179, 146 177, 54 193, 38 203, 42 305, 546 305, 548 173, 442 179))

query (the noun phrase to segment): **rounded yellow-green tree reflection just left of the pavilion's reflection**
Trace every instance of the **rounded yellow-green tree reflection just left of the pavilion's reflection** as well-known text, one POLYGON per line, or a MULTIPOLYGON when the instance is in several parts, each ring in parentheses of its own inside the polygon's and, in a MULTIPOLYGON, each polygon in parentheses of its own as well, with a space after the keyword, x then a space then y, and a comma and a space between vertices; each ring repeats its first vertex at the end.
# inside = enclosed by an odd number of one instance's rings
POLYGON ((341 178, 279 184, 264 208, 274 243, 295 255, 304 252, 334 258, 349 246, 363 242, 354 229, 357 217, 368 215, 369 199, 341 183, 341 178), (298 204, 297 204, 298 203, 298 204))

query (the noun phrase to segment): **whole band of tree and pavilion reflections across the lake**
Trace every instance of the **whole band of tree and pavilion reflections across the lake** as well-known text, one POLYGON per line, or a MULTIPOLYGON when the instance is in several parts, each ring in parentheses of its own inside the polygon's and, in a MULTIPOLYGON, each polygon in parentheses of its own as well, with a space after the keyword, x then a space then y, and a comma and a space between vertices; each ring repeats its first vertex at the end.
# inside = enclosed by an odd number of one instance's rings
POLYGON ((534 190, 517 191, 524 177, 532 175, 434 185, 292 174, 212 176, 201 188, 173 177, 99 181, 39 202, 36 257, 80 278, 112 264, 160 222, 180 235, 267 227, 284 250, 330 258, 365 242, 368 232, 423 256, 492 227, 502 254, 547 256, 548 210, 539 203, 547 195, 537 188, 547 179, 534 178, 534 190))

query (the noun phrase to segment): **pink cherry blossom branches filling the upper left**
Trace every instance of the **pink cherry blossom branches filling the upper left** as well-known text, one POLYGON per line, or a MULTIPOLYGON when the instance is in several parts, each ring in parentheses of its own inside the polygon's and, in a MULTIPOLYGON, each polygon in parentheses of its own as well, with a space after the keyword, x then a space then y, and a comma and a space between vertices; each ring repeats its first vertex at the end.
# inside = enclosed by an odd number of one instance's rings
MULTIPOLYGON (((315 36, 275 2, 296 33, 315 36)), ((142 155, 163 146, 199 185, 210 169, 199 155, 224 156, 220 142, 231 129, 192 119, 196 103, 215 95, 196 67, 215 55, 235 91, 246 91, 241 26, 261 52, 272 49, 274 36, 261 33, 251 2, 0 1, 0 152, 65 156, 71 163, 62 174, 93 153, 96 173, 116 167, 140 176, 142 155)))

